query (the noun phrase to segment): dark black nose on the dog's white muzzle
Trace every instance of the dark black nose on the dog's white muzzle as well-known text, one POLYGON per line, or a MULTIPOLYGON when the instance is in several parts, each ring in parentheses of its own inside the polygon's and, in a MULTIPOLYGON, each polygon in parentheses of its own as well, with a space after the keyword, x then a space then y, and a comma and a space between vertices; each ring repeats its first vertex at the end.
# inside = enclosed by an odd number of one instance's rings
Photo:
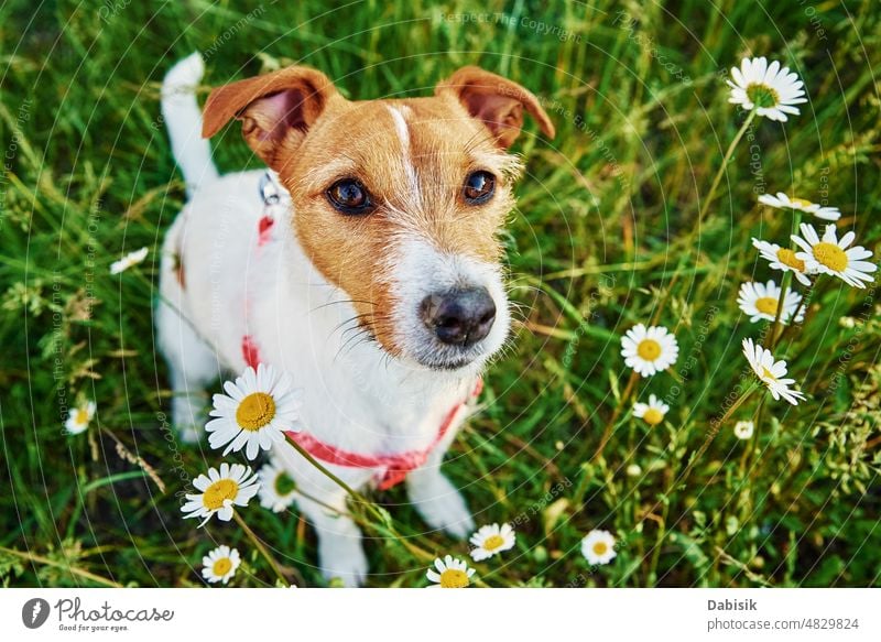
POLYGON ((420 314, 438 339, 468 347, 489 334, 496 304, 486 287, 472 287, 431 294, 422 301, 420 314))

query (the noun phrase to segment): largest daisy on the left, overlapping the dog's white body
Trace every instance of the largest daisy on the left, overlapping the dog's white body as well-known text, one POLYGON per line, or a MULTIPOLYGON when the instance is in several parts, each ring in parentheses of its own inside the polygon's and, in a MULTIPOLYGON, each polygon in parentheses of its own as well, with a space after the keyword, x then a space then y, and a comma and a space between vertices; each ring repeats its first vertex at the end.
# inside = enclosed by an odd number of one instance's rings
POLYGON ((224 455, 246 448, 254 459, 260 449, 284 442, 284 431, 300 432, 297 424, 303 391, 295 389, 286 372, 260 363, 248 368, 236 382, 224 383, 227 394, 214 395, 214 409, 205 429, 211 448, 226 445, 224 455))

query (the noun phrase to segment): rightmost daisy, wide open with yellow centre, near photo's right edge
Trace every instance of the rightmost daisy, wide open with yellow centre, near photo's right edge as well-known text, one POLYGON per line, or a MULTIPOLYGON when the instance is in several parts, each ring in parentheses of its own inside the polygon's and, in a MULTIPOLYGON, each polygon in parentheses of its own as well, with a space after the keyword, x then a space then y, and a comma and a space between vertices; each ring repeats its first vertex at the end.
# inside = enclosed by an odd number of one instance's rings
POLYGON ((871 257, 872 252, 862 246, 848 249, 856 236, 849 231, 839 240, 835 226, 827 225, 820 239, 813 225, 803 222, 802 236, 793 235, 792 240, 804 250, 796 252, 795 255, 805 262, 808 270, 838 276, 853 287, 866 287, 863 281, 874 281, 874 276, 869 276, 869 273, 878 270, 878 265, 863 261, 871 257))

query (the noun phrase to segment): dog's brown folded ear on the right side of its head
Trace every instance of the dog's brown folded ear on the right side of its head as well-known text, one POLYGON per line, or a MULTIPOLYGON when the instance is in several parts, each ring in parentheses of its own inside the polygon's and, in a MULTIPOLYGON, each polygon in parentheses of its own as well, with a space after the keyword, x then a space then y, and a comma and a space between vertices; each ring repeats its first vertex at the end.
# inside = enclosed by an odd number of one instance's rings
POLYGON ((539 99, 508 78, 480 67, 463 67, 435 87, 435 95, 444 94, 452 94, 468 113, 483 121, 503 149, 510 148, 520 134, 524 108, 539 122, 542 132, 554 138, 554 123, 539 99))

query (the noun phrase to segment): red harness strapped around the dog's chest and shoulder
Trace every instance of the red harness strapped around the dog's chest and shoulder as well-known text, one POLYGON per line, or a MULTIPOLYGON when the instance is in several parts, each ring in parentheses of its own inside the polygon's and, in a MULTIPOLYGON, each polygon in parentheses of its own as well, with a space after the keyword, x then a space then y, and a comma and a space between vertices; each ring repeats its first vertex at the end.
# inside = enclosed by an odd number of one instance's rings
MULTIPOLYGON (((271 183, 268 185, 268 182, 271 182, 272 178, 269 177, 261 181, 261 194, 263 195, 263 202, 267 206, 264 209, 264 216, 260 219, 258 224, 258 248, 264 246, 265 243, 272 240, 272 228, 274 224, 274 218, 272 217, 271 206, 279 203, 279 199, 275 198, 274 200, 271 198, 275 196, 272 192, 274 185, 271 183), (269 196, 268 196, 269 193, 269 196)), ((248 308, 248 302, 246 300, 246 312, 248 308)), ((260 363, 260 350, 258 348, 257 341, 254 340, 253 336, 246 334, 241 339, 241 355, 244 359, 244 362, 250 366, 251 368, 257 368, 258 363, 260 363)), ((477 399, 480 394, 480 391, 483 389, 483 380, 478 378, 477 382, 475 383, 475 389, 471 391, 471 394, 468 399, 457 403, 453 406, 449 412, 444 417, 444 422, 440 424, 440 427, 437 431, 437 435, 435 435, 434 439, 426 448, 421 450, 407 450, 406 453, 399 453, 396 455, 359 455, 358 453, 350 453, 348 450, 344 450, 341 448, 337 448, 336 446, 331 446, 330 444, 325 444, 317 437, 308 434, 305 431, 300 433, 294 432, 286 432, 289 438, 296 442, 304 450, 306 450, 309 455, 324 461, 325 464, 333 464, 335 466, 345 466, 348 468, 378 468, 380 471, 378 472, 378 485, 377 487, 379 490, 388 490, 393 486, 401 483, 404 478, 406 478, 407 474, 415 470, 428 459, 428 455, 431 455, 432 450, 444 439, 444 436, 449 431, 453 422, 456 418, 456 415, 461 411, 468 401, 472 399, 477 399)))

